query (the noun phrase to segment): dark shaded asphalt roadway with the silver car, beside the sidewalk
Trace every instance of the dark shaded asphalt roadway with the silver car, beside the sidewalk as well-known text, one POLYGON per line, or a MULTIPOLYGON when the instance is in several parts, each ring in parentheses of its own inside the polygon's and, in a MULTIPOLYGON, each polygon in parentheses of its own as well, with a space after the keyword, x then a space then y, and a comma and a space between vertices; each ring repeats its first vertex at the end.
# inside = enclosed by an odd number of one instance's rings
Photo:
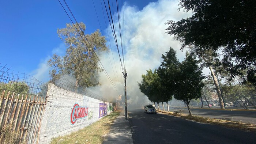
POLYGON ((134 144, 253 144, 255 132, 128 109, 134 144))

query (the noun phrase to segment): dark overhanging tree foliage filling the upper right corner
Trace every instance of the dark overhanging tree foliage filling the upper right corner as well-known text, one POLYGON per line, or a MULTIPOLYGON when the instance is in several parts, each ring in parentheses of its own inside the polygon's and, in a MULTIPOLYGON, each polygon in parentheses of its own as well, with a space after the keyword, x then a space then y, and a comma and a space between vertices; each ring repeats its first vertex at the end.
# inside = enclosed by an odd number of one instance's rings
POLYGON ((231 77, 247 71, 245 80, 256 82, 255 0, 179 1, 193 15, 177 22, 168 20, 167 34, 175 35, 182 48, 195 45, 216 52, 223 47, 222 62, 231 77))

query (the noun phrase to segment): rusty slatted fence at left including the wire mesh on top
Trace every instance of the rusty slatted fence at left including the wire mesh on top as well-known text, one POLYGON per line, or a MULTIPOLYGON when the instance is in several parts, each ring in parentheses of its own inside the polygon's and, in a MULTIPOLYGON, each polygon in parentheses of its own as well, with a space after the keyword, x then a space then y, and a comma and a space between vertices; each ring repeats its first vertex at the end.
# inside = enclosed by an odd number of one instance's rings
POLYGON ((47 85, 0 66, 0 141, 38 143, 47 85))

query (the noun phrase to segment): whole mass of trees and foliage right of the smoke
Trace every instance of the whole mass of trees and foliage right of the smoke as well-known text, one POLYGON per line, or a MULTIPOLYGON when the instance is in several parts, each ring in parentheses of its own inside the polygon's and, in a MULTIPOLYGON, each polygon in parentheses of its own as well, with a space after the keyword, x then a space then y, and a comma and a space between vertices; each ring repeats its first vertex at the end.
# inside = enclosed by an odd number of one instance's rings
MULTIPOLYGON (((256 109, 256 19, 254 1, 179 0, 180 10, 193 15, 168 20, 166 33, 174 35, 187 50, 184 61, 177 60, 170 47, 162 63, 146 70, 138 86, 154 104, 167 104, 173 98, 188 107, 196 105, 248 107, 256 109), (221 7, 221 9, 219 8, 221 7), (202 69, 209 68, 209 75, 202 69)), ((177 48, 175 48, 177 49, 177 48)))

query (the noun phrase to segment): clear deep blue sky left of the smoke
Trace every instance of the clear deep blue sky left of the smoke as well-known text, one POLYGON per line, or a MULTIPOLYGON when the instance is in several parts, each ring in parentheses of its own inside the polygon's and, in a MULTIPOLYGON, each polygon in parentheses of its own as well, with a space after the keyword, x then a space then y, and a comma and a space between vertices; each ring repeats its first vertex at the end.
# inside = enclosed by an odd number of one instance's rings
MULTIPOLYGON (((128 3, 142 9, 150 1, 128 3)), ((78 22, 86 24, 86 33, 100 29, 92 0, 66 2, 78 22)), ((101 3, 94 0, 94 4, 103 29, 101 3)), ((57 29, 71 23, 58 0, 0 1, 0 19, 1 65, 7 64, 19 73, 31 73, 37 69, 38 64, 62 43, 57 29)))

